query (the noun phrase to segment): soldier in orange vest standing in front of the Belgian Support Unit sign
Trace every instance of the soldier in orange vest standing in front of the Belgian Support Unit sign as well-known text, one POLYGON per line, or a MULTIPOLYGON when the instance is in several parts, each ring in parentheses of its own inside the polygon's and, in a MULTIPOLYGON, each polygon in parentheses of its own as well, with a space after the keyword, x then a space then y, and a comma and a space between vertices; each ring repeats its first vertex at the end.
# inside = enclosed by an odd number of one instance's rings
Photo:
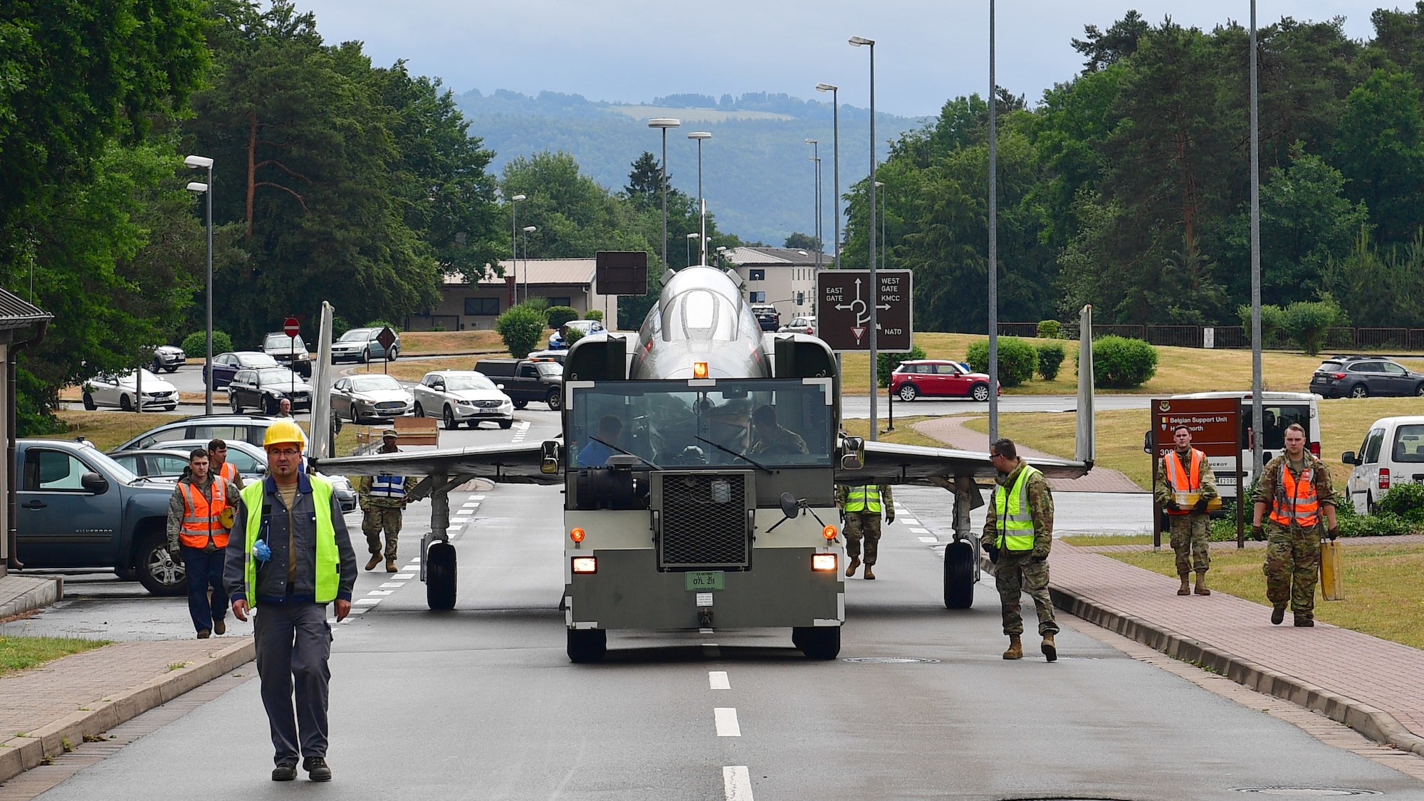
POLYGON ((1192 448, 1192 432, 1186 426, 1172 429, 1176 449, 1158 459, 1156 482, 1152 483, 1158 505, 1166 509, 1172 527, 1172 550, 1176 553, 1176 574, 1182 586, 1179 596, 1192 594, 1188 577, 1196 572, 1196 594, 1209 596, 1206 572, 1212 567, 1210 515, 1206 505, 1216 492, 1216 473, 1206 455, 1192 448), (1190 507, 1178 506, 1178 493, 1199 493, 1190 507))

